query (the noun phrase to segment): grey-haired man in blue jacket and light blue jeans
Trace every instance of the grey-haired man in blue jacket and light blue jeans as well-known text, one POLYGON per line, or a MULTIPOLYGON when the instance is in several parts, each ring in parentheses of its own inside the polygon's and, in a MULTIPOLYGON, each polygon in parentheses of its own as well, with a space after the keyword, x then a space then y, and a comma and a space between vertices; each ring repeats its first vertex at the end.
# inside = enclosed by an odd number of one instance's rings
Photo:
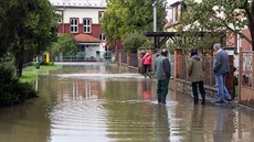
POLYGON ((221 48, 221 44, 216 43, 213 45, 216 51, 214 62, 213 62, 213 73, 215 75, 216 81, 216 101, 215 103, 223 103, 223 98, 231 101, 231 95, 225 87, 225 76, 230 73, 230 61, 227 53, 221 48))

